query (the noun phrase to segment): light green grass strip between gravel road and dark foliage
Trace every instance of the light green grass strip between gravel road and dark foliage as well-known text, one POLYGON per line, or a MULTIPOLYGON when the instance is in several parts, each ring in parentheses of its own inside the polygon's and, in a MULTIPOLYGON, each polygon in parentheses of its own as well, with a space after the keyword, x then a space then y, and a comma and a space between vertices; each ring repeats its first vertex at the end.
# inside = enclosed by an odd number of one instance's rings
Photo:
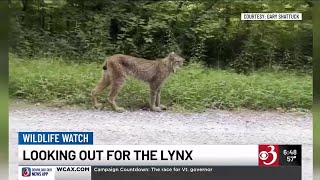
MULTIPOLYGON (((10 98, 31 102, 90 105, 90 91, 100 77, 100 63, 65 63, 57 59, 9 61, 10 98)), ((162 89, 162 104, 172 109, 311 109, 312 77, 289 72, 255 72, 249 76, 189 64, 162 89)), ((101 95, 105 102, 107 91, 101 95)), ((148 104, 148 86, 129 80, 117 102, 125 108, 148 104)))

